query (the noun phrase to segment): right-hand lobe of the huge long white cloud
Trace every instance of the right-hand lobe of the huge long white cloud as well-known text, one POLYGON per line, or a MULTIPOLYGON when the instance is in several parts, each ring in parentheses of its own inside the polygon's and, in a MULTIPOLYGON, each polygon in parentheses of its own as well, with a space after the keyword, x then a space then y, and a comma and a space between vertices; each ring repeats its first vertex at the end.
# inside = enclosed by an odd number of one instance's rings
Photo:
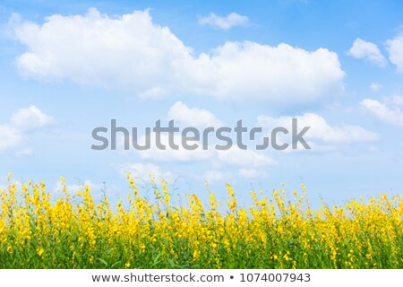
POLYGON ((287 44, 271 47, 227 42, 209 59, 215 67, 210 72, 217 77, 211 92, 220 99, 290 104, 317 100, 343 89, 339 58, 325 48, 309 52, 287 44))

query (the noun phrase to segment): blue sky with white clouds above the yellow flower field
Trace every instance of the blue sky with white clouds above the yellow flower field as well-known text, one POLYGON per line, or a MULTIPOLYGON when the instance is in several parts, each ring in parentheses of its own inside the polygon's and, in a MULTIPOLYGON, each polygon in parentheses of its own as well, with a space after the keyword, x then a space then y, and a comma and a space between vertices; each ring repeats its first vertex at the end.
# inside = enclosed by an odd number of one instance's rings
POLYGON ((125 172, 153 172, 201 196, 204 179, 244 198, 301 181, 313 201, 401 193, 402 25, 400 1, 0 1, 0 185, 64 176, 117 198, 125 172), (90 150, 111 118, 291 117, 312 126, 312 150, 90 150))

